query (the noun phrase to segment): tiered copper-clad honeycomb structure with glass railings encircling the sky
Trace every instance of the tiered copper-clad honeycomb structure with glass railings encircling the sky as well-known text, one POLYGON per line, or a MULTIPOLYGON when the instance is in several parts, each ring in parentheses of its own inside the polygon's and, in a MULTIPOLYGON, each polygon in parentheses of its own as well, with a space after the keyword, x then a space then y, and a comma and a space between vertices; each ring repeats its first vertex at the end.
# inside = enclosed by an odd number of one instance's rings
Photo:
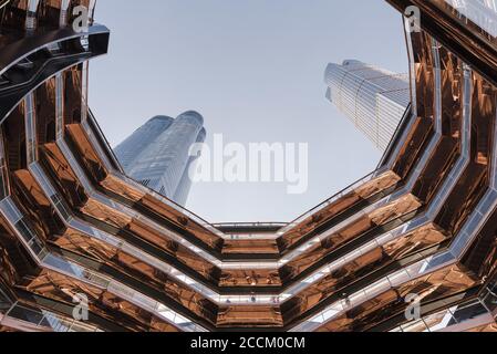
POLYGON ((87 60, 108 43, 84 45, 90 35, 69 27, 72 9, 93 1, 40 0, 33 13, 9 2, 0 332, 495 331, 496 39, 446 1, 387 2, 426 19, 406 33, 411 111, 377 171, 284 227, 215 227, 124 176, 86 103, 87 60), (70 38, 54 55, 48 33, 70 38), (12 104, 27 58, 12 45, 37 40, 30 59, 61 63, 37 84, 28 71, 33 84, 12 104), (62 61, 74 52, 83 59, 62 61), (423 321, 404 315, 413 293, 423 321), (84 322, 72 319, 81 294, 84 322), (479 322, 442 321, 455 308, 479 322))

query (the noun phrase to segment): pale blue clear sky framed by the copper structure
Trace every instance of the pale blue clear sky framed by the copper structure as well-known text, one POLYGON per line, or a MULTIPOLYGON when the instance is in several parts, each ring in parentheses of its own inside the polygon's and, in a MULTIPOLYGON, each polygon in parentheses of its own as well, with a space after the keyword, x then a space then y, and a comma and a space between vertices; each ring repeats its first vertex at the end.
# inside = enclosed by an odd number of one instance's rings
POLYGON ((329 62, 407 72, 398 12, 381 0, 100 0, 110 54, 91 64, 90 104, 111 144, 158 114, 196 110, 208 140, 309 143, 310 187, 197 184, 211 222, 290 221, 372 171, 381 154, 324 98, 329 62))

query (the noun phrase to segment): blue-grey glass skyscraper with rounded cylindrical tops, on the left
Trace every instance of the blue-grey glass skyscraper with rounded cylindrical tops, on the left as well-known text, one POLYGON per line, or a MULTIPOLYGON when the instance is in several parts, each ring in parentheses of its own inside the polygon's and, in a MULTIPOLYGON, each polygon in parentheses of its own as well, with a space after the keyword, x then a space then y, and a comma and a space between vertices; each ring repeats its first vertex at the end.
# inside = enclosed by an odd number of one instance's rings
POLYGON ((197 159, 189 156, 189 148, 205 142, 203 126, 203 116, 193 111, 176 119, 156 116, 120 144, 115 153, 132 178, 183 206, 191 187, 188 171, 197 159))

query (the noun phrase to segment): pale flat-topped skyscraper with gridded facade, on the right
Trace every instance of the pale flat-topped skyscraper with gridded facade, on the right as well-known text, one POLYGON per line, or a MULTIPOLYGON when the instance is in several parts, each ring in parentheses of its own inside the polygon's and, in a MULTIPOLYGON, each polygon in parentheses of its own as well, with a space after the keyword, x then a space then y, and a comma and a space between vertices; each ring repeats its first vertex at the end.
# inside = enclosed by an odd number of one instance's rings
POLYGON ((381 150, 386 149, 410 102, 406 74, 345 60, 329 64, 327 98, 381 150))

